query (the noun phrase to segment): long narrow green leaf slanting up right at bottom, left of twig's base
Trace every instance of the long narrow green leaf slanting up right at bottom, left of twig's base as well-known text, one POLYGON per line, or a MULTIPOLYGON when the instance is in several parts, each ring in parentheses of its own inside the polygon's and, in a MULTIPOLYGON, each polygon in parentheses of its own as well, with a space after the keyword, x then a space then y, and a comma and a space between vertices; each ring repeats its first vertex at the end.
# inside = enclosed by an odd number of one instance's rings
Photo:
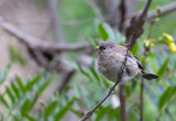
POLYGON ((76 98, 73 98, 67 105, 66 107, 62 108, 57 113, 56 113, 56 117, 55 117, 55 121, 59 121, 64 116, 65 113, 70 109, 70 107, 73 106, 73 103, 75 102, 76 98))

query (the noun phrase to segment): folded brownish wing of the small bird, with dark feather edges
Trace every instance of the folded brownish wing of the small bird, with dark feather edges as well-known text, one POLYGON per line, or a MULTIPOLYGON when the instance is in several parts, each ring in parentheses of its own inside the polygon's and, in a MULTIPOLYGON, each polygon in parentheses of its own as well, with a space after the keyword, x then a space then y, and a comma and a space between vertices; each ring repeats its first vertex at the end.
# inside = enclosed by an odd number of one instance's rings
MULTIPOLYGON (((127 47, 118 45, 118 53, 124 54, 124 52, 127 52, 127 47)), ((139 65, 139 68, 144 70, 144 67, 142 66, 140 59, 136 56, 134 56, 130 51, 128 51, 128 57, 135 59, 139 65)))

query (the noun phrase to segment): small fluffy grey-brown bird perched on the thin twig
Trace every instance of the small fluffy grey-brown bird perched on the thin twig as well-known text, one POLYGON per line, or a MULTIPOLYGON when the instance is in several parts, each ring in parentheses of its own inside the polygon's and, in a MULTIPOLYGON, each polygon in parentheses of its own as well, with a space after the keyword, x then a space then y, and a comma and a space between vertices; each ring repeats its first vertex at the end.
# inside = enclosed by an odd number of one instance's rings
MULTIPOLYGON (((109 80, 116 82, 118 75, 122 69, 122 65, 127 55, 127 47, 112 42, 101 42, 99 46, 96 47, 96 51, 99 54, 99 72, 109 80)), ((147 80, 158 78, 157 75, 146 73, 140 61, 129 51, 122 81, 131 80, 138 75, 147 80)))

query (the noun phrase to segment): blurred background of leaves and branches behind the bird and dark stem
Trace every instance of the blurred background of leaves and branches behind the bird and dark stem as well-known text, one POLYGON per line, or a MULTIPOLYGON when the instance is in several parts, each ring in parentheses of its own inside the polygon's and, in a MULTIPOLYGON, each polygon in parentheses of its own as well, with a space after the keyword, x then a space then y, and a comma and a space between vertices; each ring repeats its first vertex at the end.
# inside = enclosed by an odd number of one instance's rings
MULTIPOLYGON (((78 121, 113 85, 97 70, 94 48, 100 41, 123 45, 128 20, 145 3, 0 0, 0 121, 78 121)), ((131 52, 160 79, 124 84, 129 121, 176 121, 175 21, 175 0, 152 1, 131 52)), ((89 121, 120 121, 118 91, 89 121)))

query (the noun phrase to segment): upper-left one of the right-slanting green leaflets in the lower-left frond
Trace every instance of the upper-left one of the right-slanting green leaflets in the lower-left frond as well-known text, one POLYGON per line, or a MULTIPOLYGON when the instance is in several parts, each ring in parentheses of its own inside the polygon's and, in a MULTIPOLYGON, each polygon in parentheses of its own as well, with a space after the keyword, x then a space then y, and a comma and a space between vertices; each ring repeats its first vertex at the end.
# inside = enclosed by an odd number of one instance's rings
POLYGON ((24 91, 26 92, 28 90, 32 89, 32 87, 36 85, 36 82, 41 79, 41 77, 42 77, 42 74, 37 75, 31 81, 29 81, 24 88, 24 91))

